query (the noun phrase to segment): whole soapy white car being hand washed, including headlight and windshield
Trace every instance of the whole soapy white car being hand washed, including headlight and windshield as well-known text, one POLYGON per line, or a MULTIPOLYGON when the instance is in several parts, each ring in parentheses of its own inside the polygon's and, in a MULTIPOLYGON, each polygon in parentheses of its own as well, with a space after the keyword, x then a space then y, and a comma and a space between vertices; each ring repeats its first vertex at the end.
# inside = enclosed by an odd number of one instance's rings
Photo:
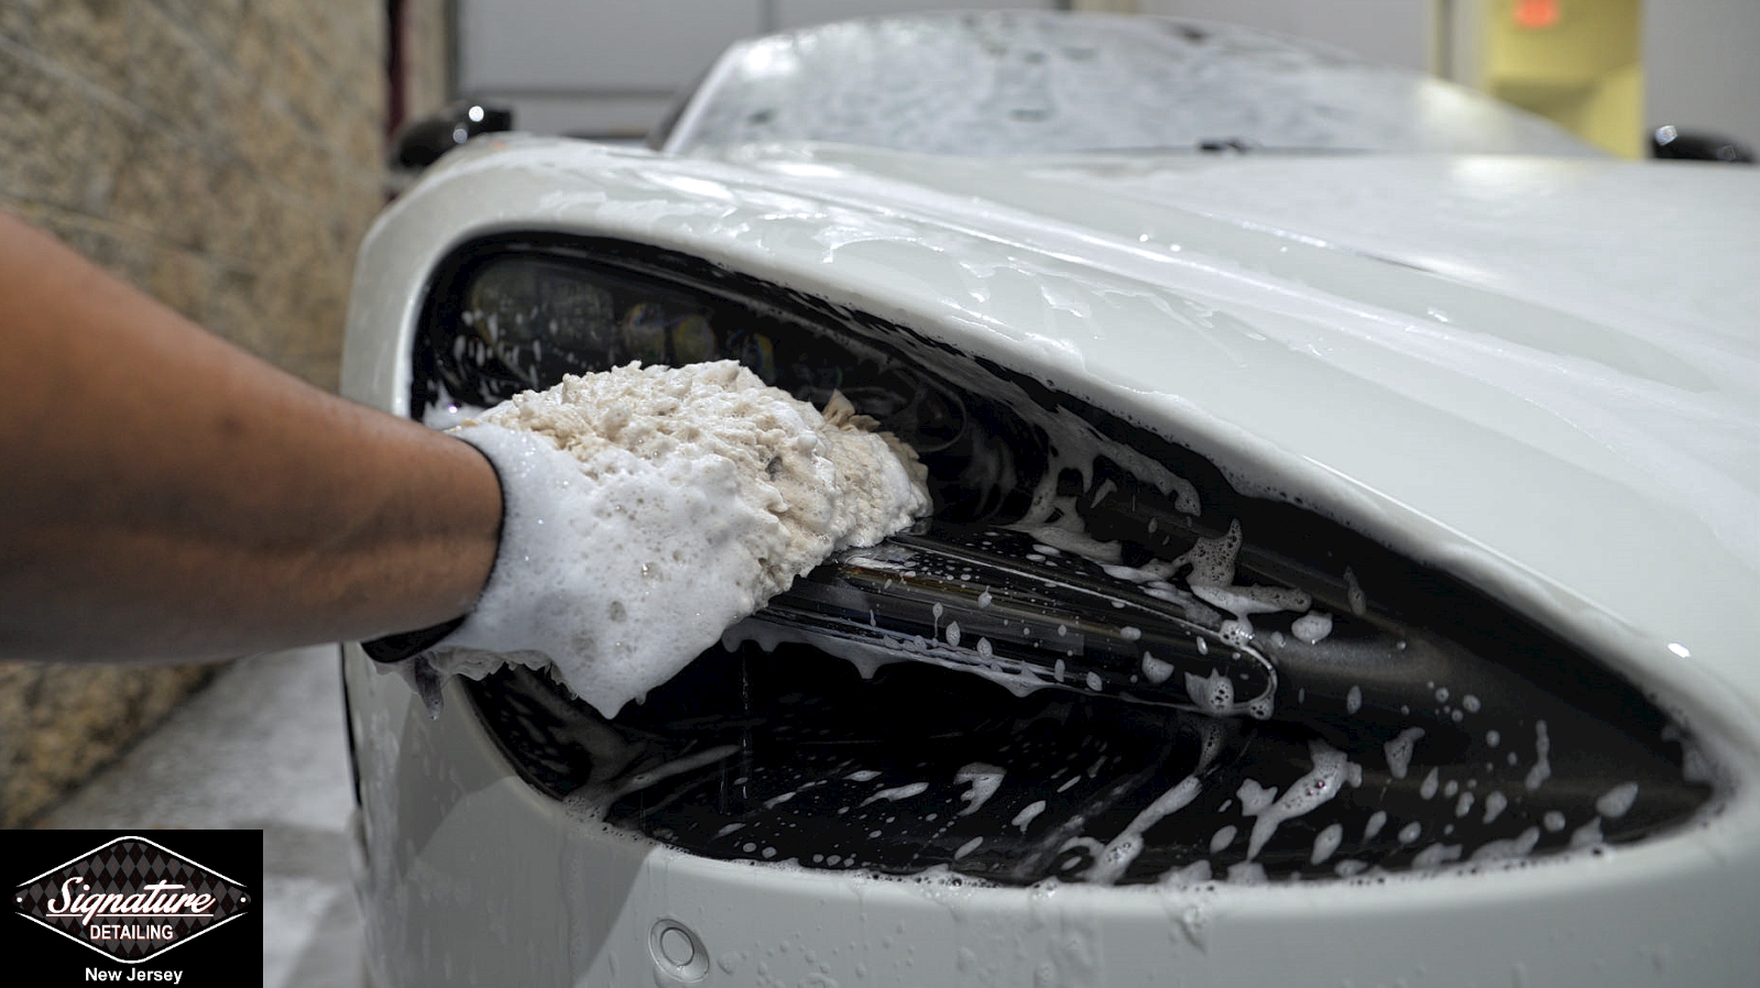
POLYGON ((447 155, 350 397, 736 357, 936 513, 609 721, 530 670, 431 719, 350 645, 375 977, 1753 983, 1756 220, 1148 18, 813 28, 653 149, 447 155))

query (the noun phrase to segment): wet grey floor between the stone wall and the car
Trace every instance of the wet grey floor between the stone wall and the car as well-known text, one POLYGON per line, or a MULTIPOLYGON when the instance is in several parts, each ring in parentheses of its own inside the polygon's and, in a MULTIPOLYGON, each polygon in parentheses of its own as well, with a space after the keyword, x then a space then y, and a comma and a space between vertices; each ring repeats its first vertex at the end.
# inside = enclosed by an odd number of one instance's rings
POLYGON ((334 645, 241 659, 39 826, 260 828, 266 988, 361 988, 334 645))

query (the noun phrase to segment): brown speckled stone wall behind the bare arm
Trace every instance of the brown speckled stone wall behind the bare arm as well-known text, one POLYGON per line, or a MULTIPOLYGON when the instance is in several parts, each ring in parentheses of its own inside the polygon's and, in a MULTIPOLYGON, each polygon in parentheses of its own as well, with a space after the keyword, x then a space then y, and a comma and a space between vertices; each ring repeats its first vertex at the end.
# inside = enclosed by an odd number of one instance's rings
MULTIPOLYGON (((0 0, 0 207, 333 389, 384 204, 385 18, 384 0, 0 0)), ((208 672, 0 663, 0 825, 208 672)))

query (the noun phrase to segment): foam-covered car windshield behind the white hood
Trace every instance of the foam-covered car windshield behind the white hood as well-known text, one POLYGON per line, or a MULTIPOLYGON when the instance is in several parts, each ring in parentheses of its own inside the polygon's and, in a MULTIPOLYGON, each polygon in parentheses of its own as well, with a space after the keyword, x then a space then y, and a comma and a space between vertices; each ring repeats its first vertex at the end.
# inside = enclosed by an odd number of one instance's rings
POLYGON ((734 46, 656 132, 672 153, 827 141, 935 155, 1593 155, 1452 83, 1223 25, 1052 12, 845 21, 734 46))

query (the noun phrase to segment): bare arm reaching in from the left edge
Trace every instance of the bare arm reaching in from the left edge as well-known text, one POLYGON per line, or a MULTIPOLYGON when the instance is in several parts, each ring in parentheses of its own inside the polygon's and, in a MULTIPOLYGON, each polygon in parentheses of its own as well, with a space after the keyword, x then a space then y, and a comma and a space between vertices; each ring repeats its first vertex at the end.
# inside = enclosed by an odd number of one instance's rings
POLYGON ((422 628, 488 580, 472 447, 329 396, 0 213, 0 657, 422 628))

